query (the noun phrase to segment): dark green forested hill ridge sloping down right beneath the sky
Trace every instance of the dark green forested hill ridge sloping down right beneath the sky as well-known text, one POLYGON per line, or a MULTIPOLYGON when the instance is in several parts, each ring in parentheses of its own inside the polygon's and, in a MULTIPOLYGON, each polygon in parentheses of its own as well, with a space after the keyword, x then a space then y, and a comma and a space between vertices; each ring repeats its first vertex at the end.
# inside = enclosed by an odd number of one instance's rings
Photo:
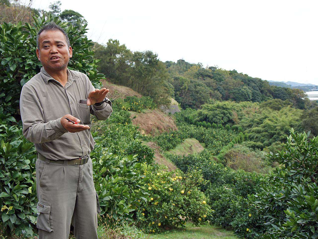
POLYGON ((172 97, 183 109, 197 109, 214 100, 262 102, 274 98, 300 109, 309 104, 300 89, 277 87, 236 70, 204 67, 182 59, 161 62, 152 51, 132 52, 118 40, 96 43, 94 51, 95 58, 101 59, 100 73, 113 83, 152 97, 156 103, 167 104, 172 97))

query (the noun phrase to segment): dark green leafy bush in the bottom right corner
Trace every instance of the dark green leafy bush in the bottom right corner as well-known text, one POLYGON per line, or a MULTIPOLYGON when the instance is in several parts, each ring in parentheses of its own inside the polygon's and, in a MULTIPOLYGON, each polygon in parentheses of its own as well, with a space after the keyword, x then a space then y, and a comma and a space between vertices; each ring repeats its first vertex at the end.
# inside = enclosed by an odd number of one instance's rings
POLYGON ((273 155, 283 166, 268 178, 271 182, 258 196, 260 207, 272 225, 264 238, 318 237, 318 137, 291 129, 285 150, 273 155))

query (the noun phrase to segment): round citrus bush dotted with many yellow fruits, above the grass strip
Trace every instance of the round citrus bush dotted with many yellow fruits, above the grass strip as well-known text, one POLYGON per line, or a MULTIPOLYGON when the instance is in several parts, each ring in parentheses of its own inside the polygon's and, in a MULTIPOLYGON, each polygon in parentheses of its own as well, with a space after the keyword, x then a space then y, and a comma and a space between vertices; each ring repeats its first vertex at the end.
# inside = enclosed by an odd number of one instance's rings
POLYGON ((144 175, 149 179, 147 199, 141 200, 137 211, 138 224, 146 232, 183 227, 187 221, 203 224, 210 217, 211 209, 198 185, 204 180, 199 171, 187 174, 168 172, 163 167, 144 164, 144 175))

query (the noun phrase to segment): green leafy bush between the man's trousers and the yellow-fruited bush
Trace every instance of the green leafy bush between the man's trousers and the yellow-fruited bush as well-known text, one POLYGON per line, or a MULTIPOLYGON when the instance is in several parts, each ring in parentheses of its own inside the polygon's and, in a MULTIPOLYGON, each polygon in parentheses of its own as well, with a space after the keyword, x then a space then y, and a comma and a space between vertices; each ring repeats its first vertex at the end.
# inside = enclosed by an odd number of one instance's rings
POLYGON ((140 175, 141 163, 138 162, 137 155, 123 157, 104 154, 99 145, 91 158, 101 208, 100 222, 107 221, 111 225, 133 221, 134 211, 140 206, 138 199, 148 194, 144 192, 143 184, 146 179, 140 175), (109 217, 105 218, 104 214, 109 217))

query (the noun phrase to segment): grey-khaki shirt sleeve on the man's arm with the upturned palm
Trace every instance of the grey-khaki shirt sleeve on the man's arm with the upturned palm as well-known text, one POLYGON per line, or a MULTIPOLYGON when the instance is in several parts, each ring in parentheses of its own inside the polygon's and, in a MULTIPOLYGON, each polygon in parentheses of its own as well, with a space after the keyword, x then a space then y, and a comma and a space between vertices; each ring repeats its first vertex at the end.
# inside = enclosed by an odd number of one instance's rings
POLYGON ((68 132, 61 124, 61 118, 45 123, 40 100, 32 87, 26 84, 20 95, 20 112, 24 137, 33 143, 50 142, 68 132))

